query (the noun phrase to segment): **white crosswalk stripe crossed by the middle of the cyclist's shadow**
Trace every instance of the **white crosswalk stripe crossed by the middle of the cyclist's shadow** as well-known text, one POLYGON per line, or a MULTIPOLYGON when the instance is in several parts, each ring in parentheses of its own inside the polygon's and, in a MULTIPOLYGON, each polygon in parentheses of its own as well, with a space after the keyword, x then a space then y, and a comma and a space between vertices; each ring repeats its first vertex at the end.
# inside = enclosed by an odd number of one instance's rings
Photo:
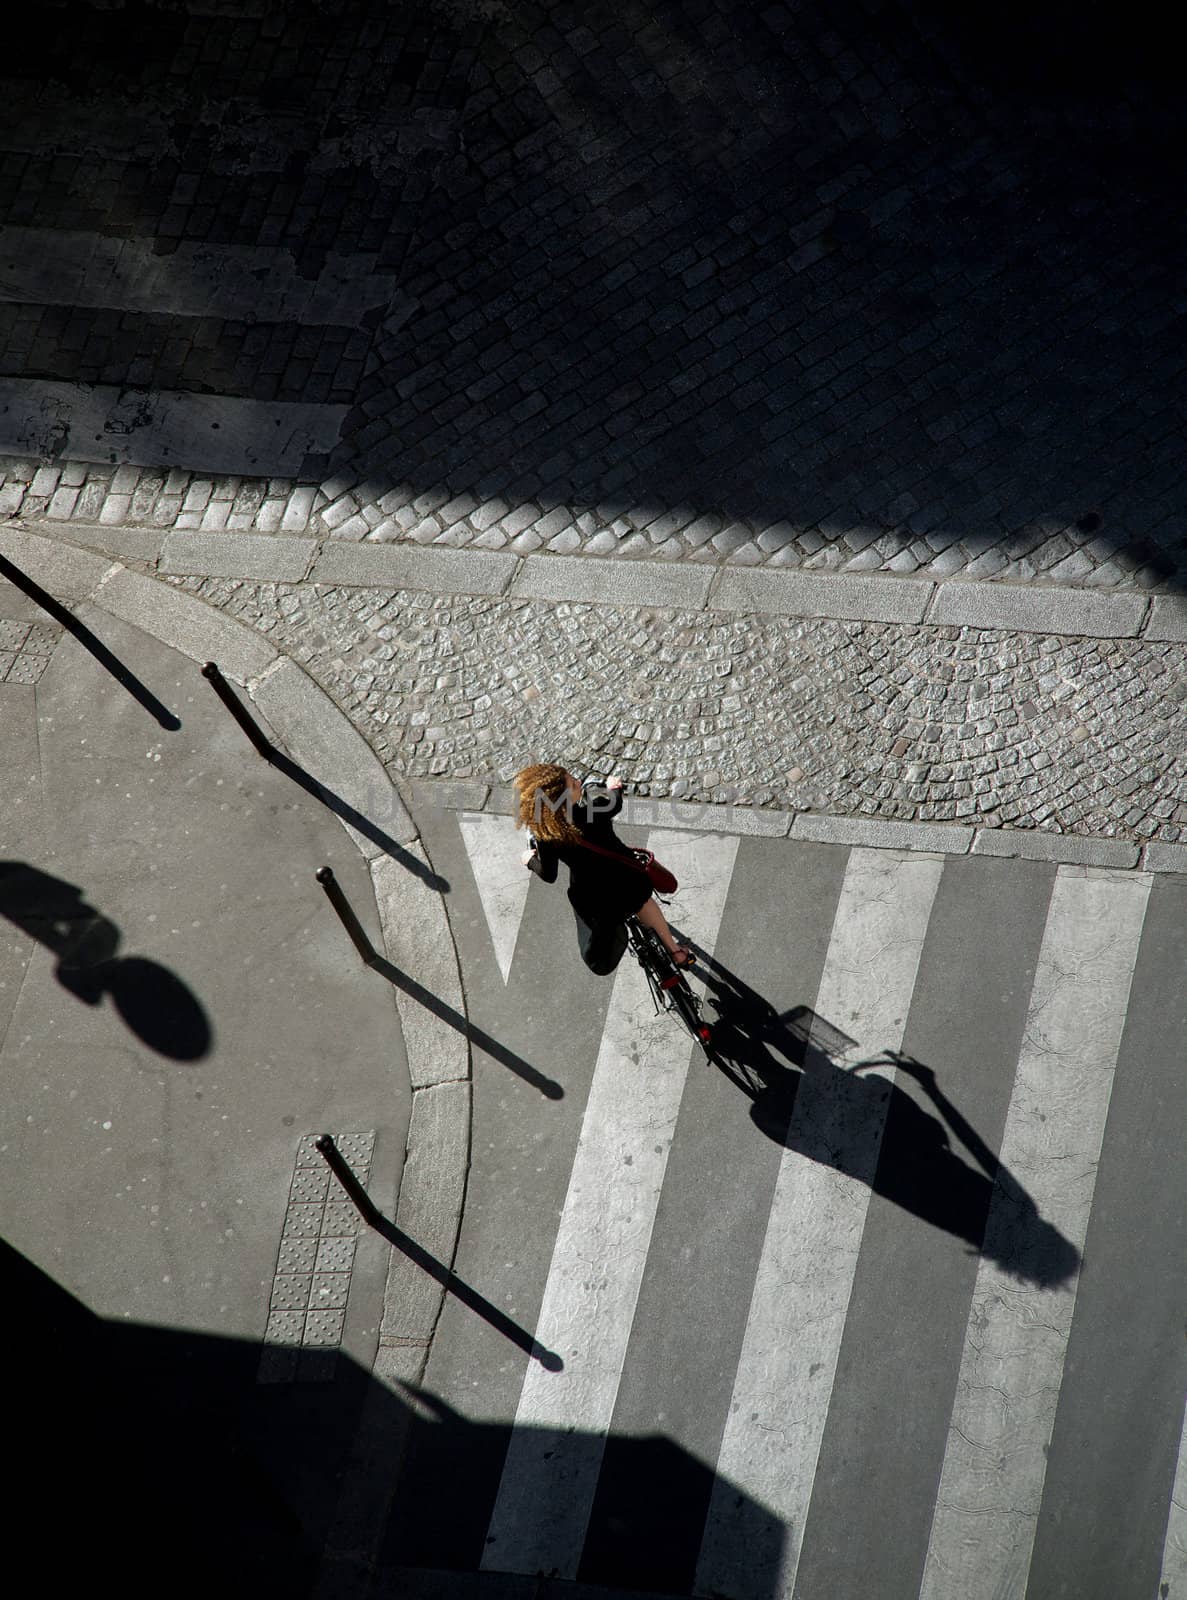
POLYGON ((854 850, 816 1013, 857 1038, 849 1059, 809 1054, 766 1222, 718 1482, 697 1566, 701 1594, 790 1594, 837 1355, 878 1162, 888 1091, 867 1056, 897 1050, 942 862, 854 850), (785 1523, 781 1571, 755 1571, 731 1514, 736 1488, 785 1523))

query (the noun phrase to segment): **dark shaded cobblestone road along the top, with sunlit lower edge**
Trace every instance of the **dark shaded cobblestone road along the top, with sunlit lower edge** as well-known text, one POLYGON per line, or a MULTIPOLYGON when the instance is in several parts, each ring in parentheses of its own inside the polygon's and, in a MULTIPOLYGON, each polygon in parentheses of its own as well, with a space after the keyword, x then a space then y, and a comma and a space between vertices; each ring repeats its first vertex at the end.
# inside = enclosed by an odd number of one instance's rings
POLYGON ((62 0, 13 30, 6 514, 1187 576, 1187 112, 1141 6, 154 0, 130 45, 62 0), (163 397, 214 408, 173 405, 173 470, 163 397))

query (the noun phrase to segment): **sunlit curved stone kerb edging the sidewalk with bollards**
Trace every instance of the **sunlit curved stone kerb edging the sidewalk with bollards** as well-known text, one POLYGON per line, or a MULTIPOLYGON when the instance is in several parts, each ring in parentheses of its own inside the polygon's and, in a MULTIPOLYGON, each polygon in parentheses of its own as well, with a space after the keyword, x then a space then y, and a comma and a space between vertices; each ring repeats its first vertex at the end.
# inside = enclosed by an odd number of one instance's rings
MULTIPOLYGON (((118 562, 11 525, 0 528, 0 554, 64 603, 91 602, 194 662, 218 661, 298 765, 325 773, 336 792, 366 816, 386 802, 381 826, 430 867, 413 819, 370 744, 296 661, 246 624, 118 562)), ((427 989, 464 1011, 458 954, 440 893, 411 877, 382 846, 347 822, 342 827, 368 862, 389 962, 402 971, 414 965, 427 989)), ((469 1045, 456 1029, 398 989, 397 1014, 413 1109, 395 1224, 451 1267, 469 1173, 469 1045)), ((443 1299, 442 1285, 400 1253, 392 1253, 373 1366, 376 1378, 419 1381, 443 1299)))

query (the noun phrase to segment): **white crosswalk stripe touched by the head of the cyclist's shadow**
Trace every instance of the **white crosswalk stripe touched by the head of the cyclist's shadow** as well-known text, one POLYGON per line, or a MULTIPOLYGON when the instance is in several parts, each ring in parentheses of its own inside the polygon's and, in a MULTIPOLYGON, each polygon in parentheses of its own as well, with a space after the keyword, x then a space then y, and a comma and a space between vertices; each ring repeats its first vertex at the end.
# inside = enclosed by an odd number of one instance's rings
MULTIPOLYGON (((944 1454, 921 1600, 1025 1594, 1075 1274, 1006 1266, 1037 1221, 1083 1250, 1149 878, 1061 867, 1030 994, 944 1454), (1025 1186, 1019 1197, 1014 1179, 1025 1186), (1014 1235, 1016 1243, 1008 1243, 1014 1235)), ((1041 1238, 1038 1253, 1041 1256, 1041 1238)))

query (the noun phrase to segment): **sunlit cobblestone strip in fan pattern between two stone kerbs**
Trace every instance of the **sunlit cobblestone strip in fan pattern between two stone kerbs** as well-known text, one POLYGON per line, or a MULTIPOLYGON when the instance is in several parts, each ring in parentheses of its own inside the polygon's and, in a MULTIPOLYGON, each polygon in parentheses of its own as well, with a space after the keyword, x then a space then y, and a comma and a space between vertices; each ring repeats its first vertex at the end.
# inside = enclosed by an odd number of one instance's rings
POLYGON ((170 582, 293 654, 392 776, 555 757, 641 795, 1187 838, 1181 643, 170 582))

